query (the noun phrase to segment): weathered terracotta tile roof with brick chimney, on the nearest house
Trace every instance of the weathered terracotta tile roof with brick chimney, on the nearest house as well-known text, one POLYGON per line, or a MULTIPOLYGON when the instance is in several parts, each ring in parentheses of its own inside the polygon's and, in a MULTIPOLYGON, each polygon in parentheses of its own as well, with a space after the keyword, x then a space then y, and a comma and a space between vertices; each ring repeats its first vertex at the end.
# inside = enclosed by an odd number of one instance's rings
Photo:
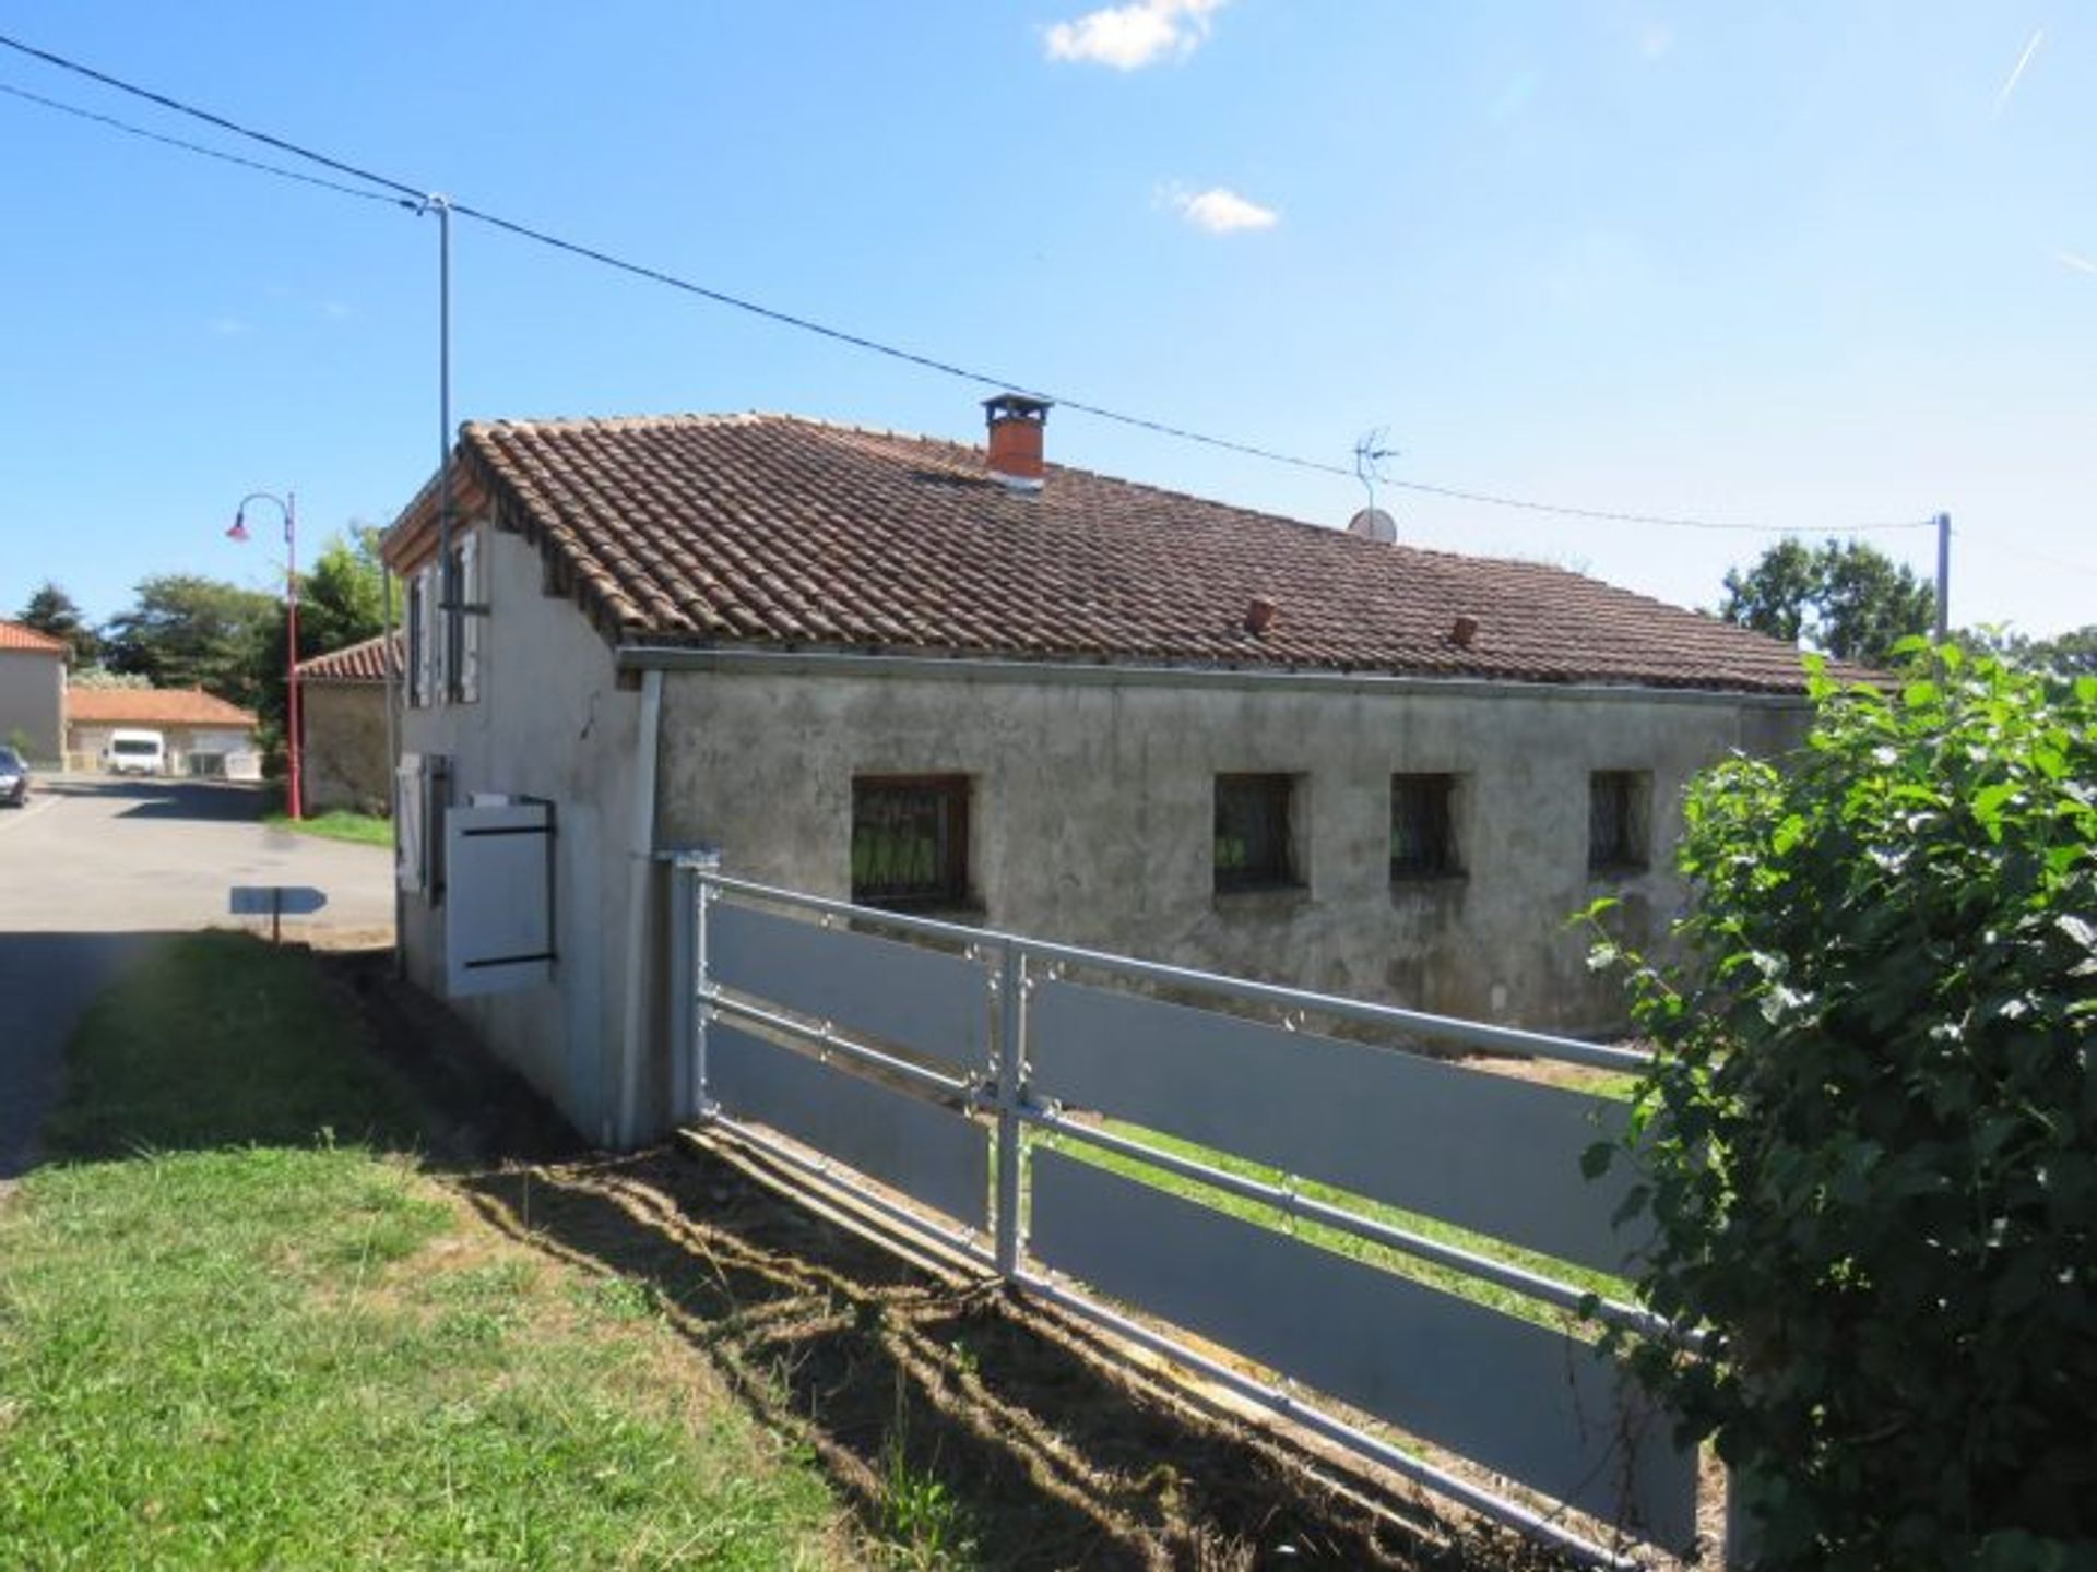
MULTIPOLYGON (((1053 451, 1055 436, 1051 432, 1053 451)), ((1759 633, 1562 568, 791 415, 468 423, 457 486, 619 643, 1801 692, 1759 633), (1273 602, 1264 633, 1246 627, 1273 602), (1470 618, 1468 643, 1453 635, 1470 618)), ((388 541, 428 549, 434 486, 388 541)))

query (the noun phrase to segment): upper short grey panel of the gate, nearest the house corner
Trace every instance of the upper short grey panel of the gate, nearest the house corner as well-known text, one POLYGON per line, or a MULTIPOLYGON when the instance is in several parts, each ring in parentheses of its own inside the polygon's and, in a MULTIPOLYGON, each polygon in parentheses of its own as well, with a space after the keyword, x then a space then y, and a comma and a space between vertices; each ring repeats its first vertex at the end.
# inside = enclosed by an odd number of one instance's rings
POLYGON ((988 1063, 986 973, 960 956, 715 901, 707 975, 946 1065, 975 1071, 988 1063))

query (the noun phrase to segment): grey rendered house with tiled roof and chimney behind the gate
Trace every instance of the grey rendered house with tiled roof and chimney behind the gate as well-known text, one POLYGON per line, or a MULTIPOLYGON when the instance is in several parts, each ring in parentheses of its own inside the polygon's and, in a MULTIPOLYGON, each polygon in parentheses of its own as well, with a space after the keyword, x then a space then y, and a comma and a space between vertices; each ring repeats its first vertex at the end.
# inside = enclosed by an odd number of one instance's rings
MULTIPOLYGON (((1382 545, 784 415, 470 423, 405 574, 401 941, 459 981, 440 820, 545 805, 549 945, 463 1000, 581 1130, 661 1094, 652 857, 1533 1027, 1619 1027, 1566 916, 1684 899, 1684 780, 1803 729, 1789 646, 1579 574, 1382 545), (442 602, 461 608, 447 616, 442 602), (409 820, 413 817, 413 824, 409 820), (635 887, 635 878, 644 878, 635 887)), ((457 987, 453 991, 457 991, 457 987)), ((654 1107, 661 1107, 656 1102, 654 1107)))

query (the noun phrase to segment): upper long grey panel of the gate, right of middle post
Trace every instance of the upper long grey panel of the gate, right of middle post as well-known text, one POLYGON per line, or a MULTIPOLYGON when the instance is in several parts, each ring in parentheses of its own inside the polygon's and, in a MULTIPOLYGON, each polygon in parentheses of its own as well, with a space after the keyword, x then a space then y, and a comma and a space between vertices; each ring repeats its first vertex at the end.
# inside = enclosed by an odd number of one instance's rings
POLYGON ((1034 991, 1036 1096, 1099 1109, 1560 1260, 1621 1270, 1631 1178, 1579 1172, 1625 1105, 1076 983, 1034 991))

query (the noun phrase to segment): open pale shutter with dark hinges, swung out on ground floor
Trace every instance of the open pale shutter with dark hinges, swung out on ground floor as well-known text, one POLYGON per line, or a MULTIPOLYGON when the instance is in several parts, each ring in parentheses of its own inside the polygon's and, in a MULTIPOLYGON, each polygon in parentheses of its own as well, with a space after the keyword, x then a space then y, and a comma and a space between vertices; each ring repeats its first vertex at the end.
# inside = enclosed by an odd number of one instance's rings
POLYGON ((445 815, 445 991, 510 994, 554 979, 554 807, 445 815))

